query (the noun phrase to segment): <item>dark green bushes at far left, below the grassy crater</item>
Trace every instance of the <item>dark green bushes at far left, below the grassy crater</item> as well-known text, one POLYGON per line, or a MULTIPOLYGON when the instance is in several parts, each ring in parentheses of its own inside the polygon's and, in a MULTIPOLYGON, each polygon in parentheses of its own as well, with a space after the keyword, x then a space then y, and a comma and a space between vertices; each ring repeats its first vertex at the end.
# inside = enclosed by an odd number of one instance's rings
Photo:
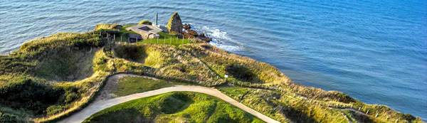
POLYGON ((78 88, 73 85, 46 85, 43 81, 29 77, 14 78, 0 87, 0 100, 5 100, 2 104, 12 108, 26 108, 36 115, 56 113, 57 107, 51 105, 66 105, 79 97, 78 88))

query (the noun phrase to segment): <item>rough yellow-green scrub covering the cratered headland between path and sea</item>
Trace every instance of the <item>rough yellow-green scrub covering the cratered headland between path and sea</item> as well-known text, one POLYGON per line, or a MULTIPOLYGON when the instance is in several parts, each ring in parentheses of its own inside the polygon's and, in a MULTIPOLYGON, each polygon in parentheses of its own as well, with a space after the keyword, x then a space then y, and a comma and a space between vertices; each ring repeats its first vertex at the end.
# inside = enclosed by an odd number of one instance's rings
MULTIPOLYGON (((216 86, 280 122, 421 122, 418 117, 384 105, 367 105, 341 92, 298 85, 271 65, 206 43, 120 43, 118 37, 135 33, 125 31, 125 27, 98 24, 87 33, 57 33, 28 41, 19 50, 1 55, 0 122, 56 121, 88 105, 105 79, 114 73, 216 86), (226 81, 224 75, 228 75, 226 81), (227 82, 236 86, 228 87, 227 82), (359 113, 348 110, 359 107, 359 113)), ((167 39, 170 36, 159 34, 167 39)), ((140 91, 164 87, 163 83, 153 82, 140 91)), ((122 95, 133 92, 138 91, 132 89, 122 95)), ((167 107, 159 107, 162 108, 167 107)), ((164 119, 173 119, 168 117, 164 119)))

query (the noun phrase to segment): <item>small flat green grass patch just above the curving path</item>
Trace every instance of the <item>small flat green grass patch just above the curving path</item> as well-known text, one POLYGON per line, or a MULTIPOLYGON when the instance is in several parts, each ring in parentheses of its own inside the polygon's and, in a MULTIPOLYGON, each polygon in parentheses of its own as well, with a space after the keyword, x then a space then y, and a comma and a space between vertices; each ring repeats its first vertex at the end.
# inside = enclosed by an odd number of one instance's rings
POLYGON ((147 77, 121 77, 114 94, 117 96, 132 95, 149 90, 157 90, 163 87, 172 87, 174 85, 189 85, 184 82, 168 82, 167 80, 152 80, 147 77))

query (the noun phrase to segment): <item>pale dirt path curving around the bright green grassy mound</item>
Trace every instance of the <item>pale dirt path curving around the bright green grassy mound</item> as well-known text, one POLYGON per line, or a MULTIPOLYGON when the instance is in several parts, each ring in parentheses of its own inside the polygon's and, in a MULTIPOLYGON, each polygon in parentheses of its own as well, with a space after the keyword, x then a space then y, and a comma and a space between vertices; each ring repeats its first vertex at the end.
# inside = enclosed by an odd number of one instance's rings
MULTIPOLYGON (((125 74, 118 74, 114 75, 107 80, 108 84, 111 84, 111 82, 115 82, 117 84, 117 80, 122 77, 127 76, 125 74), (115 81, 114 81, 115 80, 115 81)), ((132 75, 134 76, 134 75, 132 75)), ((114 84, 114 83, 113 83, 114 84)), ((107 86, 105 85, 105 86, 107 86)), ((102 91, 108 90, 108 88, 103 88, 102 91)), ((102 109, 105 109, 107 107, 112 107, 113 105, 118 105, 123 102, 127 102, 130 100, 139 99, 142 97, 149 97, 153 95, 160 95, 167 92, 180 92, 180 91, 186 91, 186 92, 200 92, 207 95, 212 95, 214 97, 218 97, 221 100, 224 100, 231 105, 234 105, 240 109, 242 109, 245 112, 248 112, 249 114, 253 114, 253 116, 258 117, 259 119, 262 119, 265 122, 278 122, 274 119, 271 119, 270 117, 265 116, 264 114, 261 114, 260 112, 256 112, 255 110, 246 107, 246 105, 241 104, 240 102, 237 102, 236 100, 233 100, 231 97, 228 97, 227 95, 224 95, 220 91, 210 88, 210 87, 200 87, 200 86, 187 86, 187 85, 176 85, 174 87, 164 87, 159 90, 151 90, 147 92, 141 92, 133 95, 127 95, 124 97, 115 97, 112 99, 108 99, 106 97, 97 97, 97 99, 92 102, 88 107, 85 107, 84 109, 80 110, 80 112, 76 112, 75 114, 71 115, 70 117, 67 117, 60 122, 83 122, 86 118, 90 117, 90 115, 95 114, 96 112, 99 112, 102 109), (98 99, 99 98, 99 99, 98 99)))

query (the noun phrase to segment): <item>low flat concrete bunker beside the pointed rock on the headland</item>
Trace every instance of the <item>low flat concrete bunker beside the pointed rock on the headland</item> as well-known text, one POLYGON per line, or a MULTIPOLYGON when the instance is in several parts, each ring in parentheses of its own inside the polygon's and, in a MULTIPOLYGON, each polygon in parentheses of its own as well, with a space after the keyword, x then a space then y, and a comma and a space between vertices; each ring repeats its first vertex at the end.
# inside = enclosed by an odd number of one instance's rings
POLYGON ((162 29, 158 28, 157 26, 151 26, 151 25, 137 25, 126 28, 127 31, 135 31, 135 33, 139 33, 142 36, 143 40, 147 40, 149 38, 159 38, 159 32, 162 31, 162 29))

